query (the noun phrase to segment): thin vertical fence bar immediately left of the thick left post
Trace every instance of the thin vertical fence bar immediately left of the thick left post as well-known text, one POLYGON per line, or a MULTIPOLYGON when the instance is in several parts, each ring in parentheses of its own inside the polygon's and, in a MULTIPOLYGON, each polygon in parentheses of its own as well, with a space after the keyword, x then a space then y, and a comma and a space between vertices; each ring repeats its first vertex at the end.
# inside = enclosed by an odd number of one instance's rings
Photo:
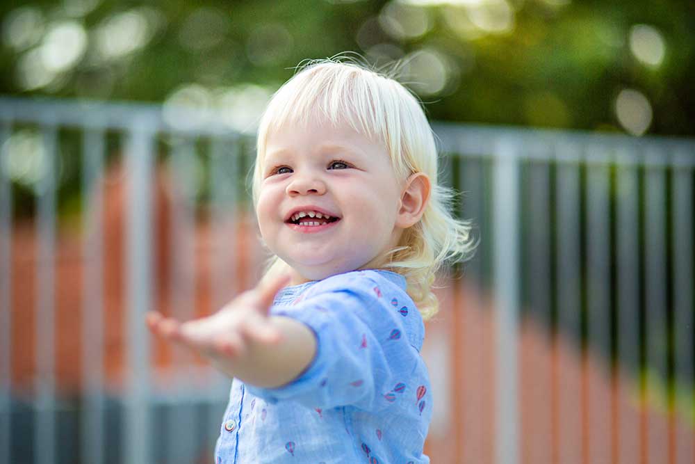
POLYGON ((81 459, 104 462, 104 131, 83 132, 81 459))

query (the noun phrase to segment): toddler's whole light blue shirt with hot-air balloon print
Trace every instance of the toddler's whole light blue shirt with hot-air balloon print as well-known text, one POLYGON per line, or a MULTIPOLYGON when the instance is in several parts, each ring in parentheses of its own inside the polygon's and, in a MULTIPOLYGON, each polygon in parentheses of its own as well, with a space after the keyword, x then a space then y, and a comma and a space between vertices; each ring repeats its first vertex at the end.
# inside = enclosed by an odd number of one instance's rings
POLYGON ((282 289, 270 314, 313 330, 317 351, 277 388, 234 378, 215 462, 426 464, 432 392, 425 326, 405 278, 351 271, 282 289))

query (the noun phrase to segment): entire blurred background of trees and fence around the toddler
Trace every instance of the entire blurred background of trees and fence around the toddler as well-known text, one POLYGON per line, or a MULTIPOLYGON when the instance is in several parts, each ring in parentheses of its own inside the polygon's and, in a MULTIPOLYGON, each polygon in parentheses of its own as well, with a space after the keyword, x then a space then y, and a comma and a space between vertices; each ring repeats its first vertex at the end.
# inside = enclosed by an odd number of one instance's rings
POLYGON ((695 462, 689 1, 0 5, 0 464, 210 463, 152 339, 260 277, 256 123, 349 51, 423 102, 481 245, 426 324, 434 463, 695 462))

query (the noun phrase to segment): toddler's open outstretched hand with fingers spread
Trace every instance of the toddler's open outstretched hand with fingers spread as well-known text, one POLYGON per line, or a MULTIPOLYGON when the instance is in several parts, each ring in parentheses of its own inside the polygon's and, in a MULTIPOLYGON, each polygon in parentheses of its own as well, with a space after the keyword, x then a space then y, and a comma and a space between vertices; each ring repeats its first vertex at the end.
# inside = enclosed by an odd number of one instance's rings
POLYGON ((289 278, 289 274, 279 275, 265 284, 256 285, 215 314, 194 321, 181 323, 151 311, 147 314, 147 326, 152 333, 188 346, 211 358, 227 374, 232 374, 229 362, 247 354, 252 344, 277 344, 280 341, 281 334, 270 323, 268 312, 275 294, 289 278))

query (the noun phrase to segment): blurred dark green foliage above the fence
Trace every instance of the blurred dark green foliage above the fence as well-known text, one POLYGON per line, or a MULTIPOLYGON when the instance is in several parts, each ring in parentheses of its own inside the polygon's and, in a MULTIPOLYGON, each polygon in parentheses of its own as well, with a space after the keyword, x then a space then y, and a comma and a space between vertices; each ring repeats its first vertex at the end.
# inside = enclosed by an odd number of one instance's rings
MULTIPOLYGON (((470 2, 482 5, 475 10, 470 4, 442 1, 413 7, 419 10, 416 17, 427 18, 429 28, 403 36, 389 29, 388 17, 404 3, 418 2, 4 3, 0 63, 8 72, 0 77, 0 93, 164 102, 190 83, 211 89, 256 83, 272 92, 305 58, 354 51, 384 64, 387 56, 409 59, 414 52, 434 50, 447 66, 445 86, 434 92, 413 86, 434 120, 621 130, 616 97, 631 88, 651 105, 648 133, 695 134, 692 2, 486 0, 470 2), (79 7, 85 4, 91 9, 79 7), (22 8, 38 13, 40 21, 34 23, 33 42, 17 45, 19 34, 12 34, 11 25, 22 8), (99 35, 104 24, 127 12, 142 13, 148 38, 141 47, 104 58, 101 42, 113 47, 123 40, 138 42, 142 31, 136 29, 118 37, 117 31, 128 31, 127 21, 114 23, 121 29, 114 26, 99 35), (381 20, 375 20, 379 15, 381 20), (49 83, 23 83, 22 60, 26 67, 26 56, 42 47, 51 26, 65 21, 83 28, 83 54, 49 83), (640 24, 646 29, 637 31, 640 24), (641 40, 637 48, 657 59, 657 65, 637 58, 631 48, 635 38, 641 40), (661 51, 657 42, 663 44, 661 51)), ((412 23, 401 24, 407 29, 412 23)), ((423 76, 415 68, 404 80, 418 82, 423 76)))

